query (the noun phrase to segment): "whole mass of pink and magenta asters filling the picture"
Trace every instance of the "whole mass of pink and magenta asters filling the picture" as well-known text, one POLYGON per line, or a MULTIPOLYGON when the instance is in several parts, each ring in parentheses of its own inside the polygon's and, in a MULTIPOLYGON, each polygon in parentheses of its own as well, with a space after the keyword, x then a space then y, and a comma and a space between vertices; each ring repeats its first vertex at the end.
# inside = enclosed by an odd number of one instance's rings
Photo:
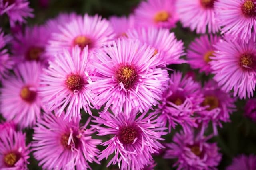
MULTIPOLYGON (((32 12, 28 0, 0 0, 10 27, 32 12)), ((254 96, 256 1, 148 0, 128 17, 59 14, 12 35, 0 29, 0 82, 0 169, 26 170, 31 152, 46 170, 92 169, 103 159, 152 170, 164 150, 178 170, 217 170, 222 154, 208 140, 238 98, 254 96), (170 32, 178 21, 202 34, 186 52, 170 32), (183 63, 213 78, 170 69, 183 63), (23 129, 34 129, 28 145, 23 129)), ((255 105, 244 109, 253 121, 255 105)), ((253 170, 255 160, 242 155, 228 170, 253 170)))

